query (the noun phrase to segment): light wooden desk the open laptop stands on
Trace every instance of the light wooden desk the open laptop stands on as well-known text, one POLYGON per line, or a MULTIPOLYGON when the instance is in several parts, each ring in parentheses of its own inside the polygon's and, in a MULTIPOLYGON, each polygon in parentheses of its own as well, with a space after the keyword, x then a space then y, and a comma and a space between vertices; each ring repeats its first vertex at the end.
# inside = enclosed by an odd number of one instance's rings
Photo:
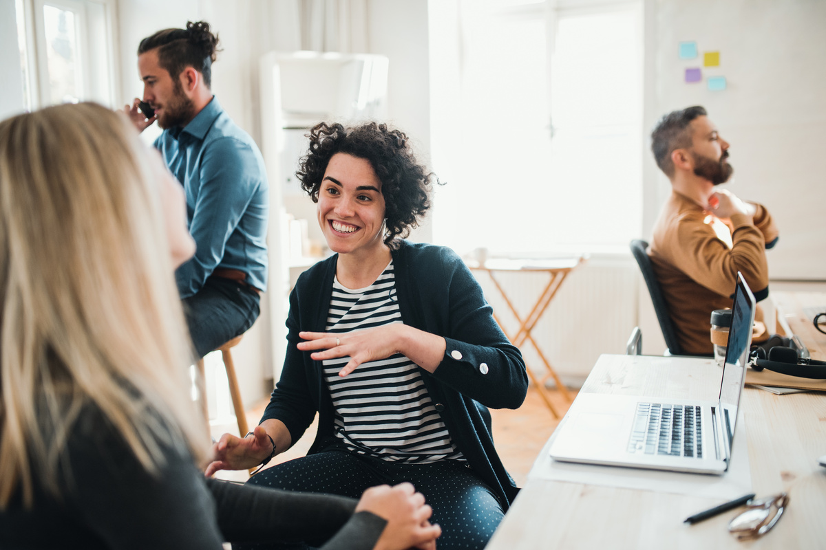
MULTIPOLYGON (((686 361, 653 369, 634 364, 632 355, 602 355, 582 392, 715 398, 719 367, 713 360, 686 361)), ((719 500, 540 479, 536 468, 550 460, 546 444, 487 550, 824 548, 826 468, 817 458, 826 454, 826 395, 745 388, 741 402, 746 430, 738 429, 738 437, 748 438, 754 492, 790 496, 786 513, 766 536, 738 542, 726 529, 736 510, 682 523, 719 500)))

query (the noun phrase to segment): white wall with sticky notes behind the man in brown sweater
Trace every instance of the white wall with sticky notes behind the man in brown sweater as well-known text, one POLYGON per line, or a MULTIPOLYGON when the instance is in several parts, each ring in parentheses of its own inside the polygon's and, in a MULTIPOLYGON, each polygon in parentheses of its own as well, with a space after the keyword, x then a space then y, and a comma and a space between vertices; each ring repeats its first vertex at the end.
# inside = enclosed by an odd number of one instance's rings
MULTIPOLYGON (((737 195, 766 204, 781 237, 768 252, 772 279, 826 280, 826 2, 811 0, 646 0, 645 127, 669 110, 703 105, 731 143, 737 195), (677 45, 718 50, 728 89, 686 84, 677 45)), ((670 187, 645 158, 645 233, 670 187), (656 201, 652 198, 656 197, 656 201)))

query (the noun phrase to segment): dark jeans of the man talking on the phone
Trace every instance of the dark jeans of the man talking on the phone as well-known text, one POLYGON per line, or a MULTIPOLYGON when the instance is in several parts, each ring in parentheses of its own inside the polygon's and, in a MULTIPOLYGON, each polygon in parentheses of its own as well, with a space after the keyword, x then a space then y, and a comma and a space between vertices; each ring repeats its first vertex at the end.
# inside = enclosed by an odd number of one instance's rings
POLYGON ((198 358, 248 331, 259 316, 259 302, 253 289, 222 277, 210 277, 197 294, 183 299, 198 358))

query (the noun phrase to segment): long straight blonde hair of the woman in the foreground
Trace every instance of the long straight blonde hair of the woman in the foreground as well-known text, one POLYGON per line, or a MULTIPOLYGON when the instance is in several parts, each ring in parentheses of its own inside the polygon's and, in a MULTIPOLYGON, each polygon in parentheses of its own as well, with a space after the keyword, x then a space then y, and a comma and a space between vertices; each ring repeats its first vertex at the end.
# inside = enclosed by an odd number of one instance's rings
POLYGON ((90 405, 149 472, 160 444, 206 458, 149 161, 126 117, 92 103, 0 122, 0 510, 18 490, 31 505, 35 478, 59 494, 90 405))

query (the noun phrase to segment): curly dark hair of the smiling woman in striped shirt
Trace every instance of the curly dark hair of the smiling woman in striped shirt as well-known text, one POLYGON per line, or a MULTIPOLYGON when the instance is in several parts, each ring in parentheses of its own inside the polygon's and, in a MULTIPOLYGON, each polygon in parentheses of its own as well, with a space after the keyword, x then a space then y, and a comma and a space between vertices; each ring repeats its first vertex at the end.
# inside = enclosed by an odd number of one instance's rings
POLYGON ((296 172, 301 188, 318 202, 321 180, 335 153, 347 153, 370 162, 382 182, 386 233, 384 243, 398 246, 430 208, 430 190, 439 177, 428 172, 411 151, 407 135, 387 125, 368 122, 353 128, 321 122, 310 130, 310 148, 296 172))

